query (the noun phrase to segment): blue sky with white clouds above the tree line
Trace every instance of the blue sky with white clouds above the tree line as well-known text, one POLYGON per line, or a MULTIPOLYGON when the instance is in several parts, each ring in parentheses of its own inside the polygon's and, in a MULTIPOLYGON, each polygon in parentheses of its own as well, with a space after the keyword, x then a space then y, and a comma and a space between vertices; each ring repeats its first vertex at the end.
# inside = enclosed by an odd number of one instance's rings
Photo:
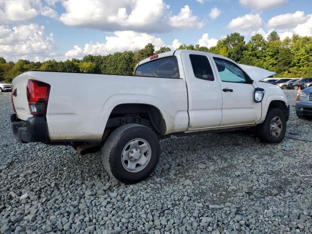
POLYGON ((0 0, 0 57, 66 60, 180 44, 312 36, 312 0, 0 0))

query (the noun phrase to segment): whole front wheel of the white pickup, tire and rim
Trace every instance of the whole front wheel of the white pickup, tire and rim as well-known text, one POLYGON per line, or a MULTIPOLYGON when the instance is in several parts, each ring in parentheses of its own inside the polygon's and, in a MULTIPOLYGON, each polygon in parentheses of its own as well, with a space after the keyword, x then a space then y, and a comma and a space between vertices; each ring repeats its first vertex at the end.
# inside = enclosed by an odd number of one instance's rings
POLYGON ((270 108, 264 122, 257 126, 258 137, 267 143, 279 143, 286 133, 286 117, 282 110, 270 108))

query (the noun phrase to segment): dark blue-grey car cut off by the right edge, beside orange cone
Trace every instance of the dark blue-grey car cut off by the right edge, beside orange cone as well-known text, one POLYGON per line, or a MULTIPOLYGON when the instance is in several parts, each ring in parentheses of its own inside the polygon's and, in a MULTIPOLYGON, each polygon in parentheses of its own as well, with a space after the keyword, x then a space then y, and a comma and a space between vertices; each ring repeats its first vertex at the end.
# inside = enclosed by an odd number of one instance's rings
POLYGON ((296 101, 296 114, 299 118, 312 119, 312 86, 300 92, 296 101))

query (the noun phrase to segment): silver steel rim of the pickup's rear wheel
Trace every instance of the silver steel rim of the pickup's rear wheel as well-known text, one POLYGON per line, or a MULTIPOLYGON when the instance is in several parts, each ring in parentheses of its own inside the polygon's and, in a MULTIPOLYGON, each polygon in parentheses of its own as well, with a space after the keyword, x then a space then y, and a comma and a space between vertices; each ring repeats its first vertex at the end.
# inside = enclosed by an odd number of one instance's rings
POLYGON ((146 140, 142 138, 133 139, 122 150, 122 166, 128 172, 139 172, 148 165, 151 155, 152 149, 146 140))

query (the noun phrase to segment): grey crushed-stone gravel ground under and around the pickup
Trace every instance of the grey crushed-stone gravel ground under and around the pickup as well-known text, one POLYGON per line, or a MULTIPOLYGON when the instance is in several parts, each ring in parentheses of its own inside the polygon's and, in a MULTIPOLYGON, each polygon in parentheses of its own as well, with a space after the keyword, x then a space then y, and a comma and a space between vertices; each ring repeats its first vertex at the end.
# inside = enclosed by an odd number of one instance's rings
POLYGON ((1 234, 312 233, 312 121, 294 107, 280 144, 251 132, 162 140, 136 185, 110 179, 100 153, 18 143, 11 113, 0 94, 1 234))

